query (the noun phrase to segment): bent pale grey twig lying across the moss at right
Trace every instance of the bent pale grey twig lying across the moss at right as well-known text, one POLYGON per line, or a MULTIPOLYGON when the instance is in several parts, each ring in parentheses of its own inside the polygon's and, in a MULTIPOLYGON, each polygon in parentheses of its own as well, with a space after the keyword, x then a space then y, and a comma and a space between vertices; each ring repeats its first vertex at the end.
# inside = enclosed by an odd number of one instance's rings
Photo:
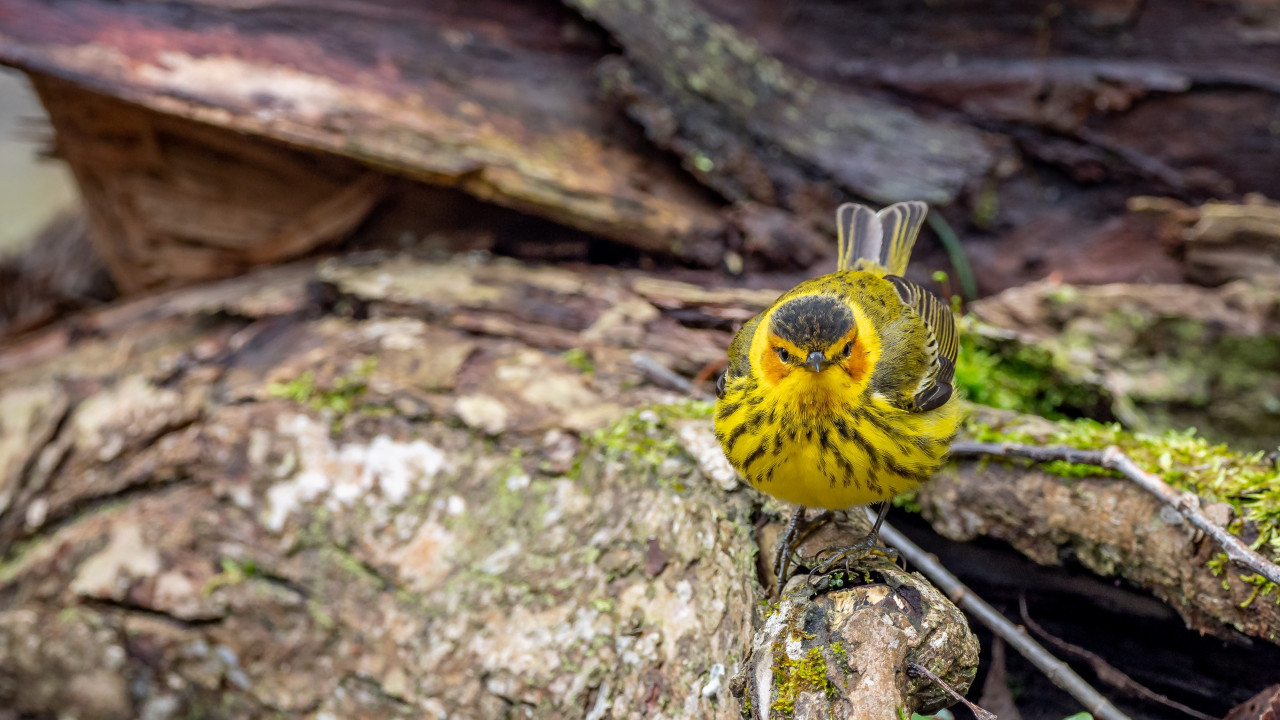
POLYGON ((1133 480, 1139 487, 1155 495, 1165 505, 1172 507, 1187 519, 1196 529, 1213 538, 1226 556, 1236 565, 1248 568, 1272 583, 1280 583, 1280 566, 1271 562, 1262 553, 1251 548, 1244 541, 1226 532, 1226 528, 1210 520, 1199 511, 1199 497, 1192 492, 1178 492, 1169 487, 1169 483, 1158 475, 1148 473, 1138 466, 1119 447, 1111 446, 1106 450, 1076 450, 1074 447, 1042 447, 1037 445, 1020 445, 1015 442, 968 442, 960 441, 951 446, 952 455, 992 455, 997 457, 1025 457, 1037 462, 1051 460, 1065 460, 1079 465, 1097 465, 1115 470, 1125 478, 1133 480))

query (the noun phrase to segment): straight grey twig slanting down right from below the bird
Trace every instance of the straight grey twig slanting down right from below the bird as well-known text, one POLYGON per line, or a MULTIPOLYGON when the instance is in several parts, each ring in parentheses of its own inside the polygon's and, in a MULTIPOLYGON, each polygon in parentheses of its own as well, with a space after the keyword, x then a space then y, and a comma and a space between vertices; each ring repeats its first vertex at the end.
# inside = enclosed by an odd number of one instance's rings
POLYGON ((1085 683, 1066 662, 1053 657, 1043 646, 1032 639, 1027 634, 1027 630, 1010 623, 1000 611, 974 594, 959 578, 943 568, 937 557, 920 550, 920 546, 908 539, 897 528, 886 523, 881 528, 881 537, 890 547, 896 548, 905 560, 915 565, 934 585, 947 593, 951 602, 956 603, 987 628, 991 628, 991 632, 1004 638, 1006 643, 1029 660, 1032 665, 1039 667, 1055 685, 1080 701, 1084 708, 1092 712, 1097 720, 1129 720, 1128 715, 1120 712, 1111 705, 1111 701, 1102 697, 1098 691, 1085 683))

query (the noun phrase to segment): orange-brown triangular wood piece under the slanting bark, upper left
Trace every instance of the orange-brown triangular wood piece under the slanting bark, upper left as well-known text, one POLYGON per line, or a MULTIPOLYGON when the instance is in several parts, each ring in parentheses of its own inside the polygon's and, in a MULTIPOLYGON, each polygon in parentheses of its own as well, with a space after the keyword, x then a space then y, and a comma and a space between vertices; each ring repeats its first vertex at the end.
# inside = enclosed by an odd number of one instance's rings
POLYGON ((381 173, 32 78, 123 295, 234 277, 343 238, 381 173))

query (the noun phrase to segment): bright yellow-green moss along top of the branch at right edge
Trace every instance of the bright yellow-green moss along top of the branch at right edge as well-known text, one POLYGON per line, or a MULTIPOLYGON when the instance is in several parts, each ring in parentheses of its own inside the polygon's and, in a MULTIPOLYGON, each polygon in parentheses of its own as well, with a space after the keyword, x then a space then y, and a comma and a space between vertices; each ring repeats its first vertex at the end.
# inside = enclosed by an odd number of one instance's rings
MULTIPOLYGON (((980 442, 1020 442, 1033 445, 1065 445, 1080 450, 1102 450, 1115 446, 1139 468, 1158 474, 1170 486, 1190 491, 1208 502, 1226 502, 1234 510, 1235 520, 1228 528, 1239 534, 1248 524, 1257 533, 1254 550, 1271 559, 1280 557, 1280 483, 1276 482, 1277 462, 1260 452, 1240 452, 1225 445, 1216 445, 1196 434, 1194 429, 1164 433, 1129 432, 1119 423, 1093 420, 1059 421, 1047 437, 1025 432, 1005 432, 982 424, 968 424, 966 432, 980 442)), ((1114 474, 1092 465, 1050 462, 1043 469, 1064 477, 1097 477, 1114 474)), ((1225 556, 1210 560, 1210 569, 1220 574, 1225 556)), ((1261 583, 1261 578, 1242 578, 1261 583)), ((1225 582, 1225 580, 1224 580, 1225 582)), ((1263 587, 1260 594, 1271 594, 1274 587, 1263 587)))

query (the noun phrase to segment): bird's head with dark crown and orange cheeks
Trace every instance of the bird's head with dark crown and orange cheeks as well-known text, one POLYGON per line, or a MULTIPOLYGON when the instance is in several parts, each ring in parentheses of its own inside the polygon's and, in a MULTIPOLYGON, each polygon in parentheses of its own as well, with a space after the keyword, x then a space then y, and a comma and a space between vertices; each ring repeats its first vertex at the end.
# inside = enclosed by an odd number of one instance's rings
POLYGON ((794 372, 822 375, 828 369, 847 372, 846 379, 865 375, 867 352, 859 346, 858 320, 847 302, 828 295, 801 295, 777 306, 769 315, 756 361, 773 382, 794 372))

